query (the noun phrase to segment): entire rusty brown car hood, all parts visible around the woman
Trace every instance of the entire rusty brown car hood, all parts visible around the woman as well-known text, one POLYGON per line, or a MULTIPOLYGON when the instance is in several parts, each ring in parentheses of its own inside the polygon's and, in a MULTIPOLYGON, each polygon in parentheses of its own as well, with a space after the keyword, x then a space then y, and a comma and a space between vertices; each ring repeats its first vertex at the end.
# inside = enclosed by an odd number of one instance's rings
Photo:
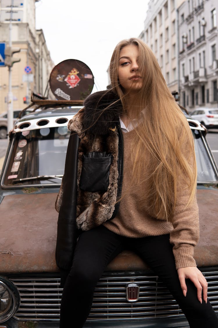
MULTIPOLYGON (((54 204, 57 193, 20 194, 4 197, 1 209, 1 273, 57 272, 55 247, 58 214, 54 204)), ((218 190, 197 190, 200 241, 195 247, 199 267, 218 265, 218 190)), ((143 270, 146 264, 125 251, 108 270, 143 270)))

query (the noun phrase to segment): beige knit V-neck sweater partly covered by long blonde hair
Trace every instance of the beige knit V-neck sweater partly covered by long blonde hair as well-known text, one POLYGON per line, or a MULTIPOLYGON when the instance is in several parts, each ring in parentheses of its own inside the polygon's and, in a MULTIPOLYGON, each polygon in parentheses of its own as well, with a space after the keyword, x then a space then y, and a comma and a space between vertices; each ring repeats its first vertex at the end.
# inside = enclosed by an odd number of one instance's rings
POLYGON ((104 226, 118 235, 132 238, 170 234, 176 269, 196 266, 193 258, 193 249, 199 239, 198 206, 195 199, 194 204, 185 208, 188 202, 188 195, 185 192, 185 179, 180 179, 178 183, 176 211, 172 223, 149 215, 146 210, 146 204, 143 207, 139 206, 138 194, 141 193, 141 186, 138 190, 137 188, 134 188, 134 190, 129 190, 128 188, 132 174, 129 158, 134 133, 134 130, 124 133, 124 176, 122 187, 122 195, 124 197, 120 201, 116 217, 105 222, 104 226))

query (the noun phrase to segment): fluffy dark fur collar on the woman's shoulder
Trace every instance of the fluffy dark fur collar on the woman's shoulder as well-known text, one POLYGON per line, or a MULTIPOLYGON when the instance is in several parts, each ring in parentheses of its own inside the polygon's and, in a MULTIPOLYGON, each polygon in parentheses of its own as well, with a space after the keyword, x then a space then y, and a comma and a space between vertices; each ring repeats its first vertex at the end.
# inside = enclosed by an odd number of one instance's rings
POLYGON ((87 130, 88 133, 104 135, 119 122, 121 113, 122 104, 117 95, 108 90, 98 91, 85 99, 84 108, 69 121, 68 129, 77 133, 87 130))

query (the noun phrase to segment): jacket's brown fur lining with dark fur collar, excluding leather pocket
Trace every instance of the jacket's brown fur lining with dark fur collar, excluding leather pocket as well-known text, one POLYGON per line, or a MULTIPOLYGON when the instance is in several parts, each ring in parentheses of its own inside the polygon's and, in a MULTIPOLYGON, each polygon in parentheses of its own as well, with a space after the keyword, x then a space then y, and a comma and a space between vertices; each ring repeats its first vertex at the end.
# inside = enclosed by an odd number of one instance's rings
MULTIPOLYGON (((121 101, 109 91, 95 92, 84 102, 82 108, 68 123, 68 129, 78 133, 80 138, 77 166, 77 213, 78 229, 90 230, 105 221, 113 214, 118 189, 118 141, 119 136, 114 128, 122 112, 121 101), (107 108, 108 107, 108 108, 107 108), (106 110, 104 110, 106 108, 106 110), (83 154, 103 152, 112 154, 109 169, 109 187, 106 192, 87 192, 79 188, 83 165, 83 154)), ((67 178, 67 177, 66 177, 67 178)), ((63 194, 61 184, 56 201, 59 210, 63 194)))

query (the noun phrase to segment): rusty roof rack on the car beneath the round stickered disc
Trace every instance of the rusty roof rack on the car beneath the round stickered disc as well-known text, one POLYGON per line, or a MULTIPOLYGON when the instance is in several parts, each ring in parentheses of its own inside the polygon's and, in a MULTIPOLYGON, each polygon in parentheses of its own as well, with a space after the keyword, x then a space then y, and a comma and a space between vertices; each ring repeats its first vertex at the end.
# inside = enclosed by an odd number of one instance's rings
POLYGON ((46 97, 42 97, 41 95, 32 92, 31 93, 31 103, 25 107, 20 113, 18 118, 21 118, 23 112, 25 112, 28 108, 36 105, 33 112, 43 106, 43 109, 47 109, 48 107, 59 107, 61 105, 65 106, 82 106, 84 100, 49 100, 46 97))

